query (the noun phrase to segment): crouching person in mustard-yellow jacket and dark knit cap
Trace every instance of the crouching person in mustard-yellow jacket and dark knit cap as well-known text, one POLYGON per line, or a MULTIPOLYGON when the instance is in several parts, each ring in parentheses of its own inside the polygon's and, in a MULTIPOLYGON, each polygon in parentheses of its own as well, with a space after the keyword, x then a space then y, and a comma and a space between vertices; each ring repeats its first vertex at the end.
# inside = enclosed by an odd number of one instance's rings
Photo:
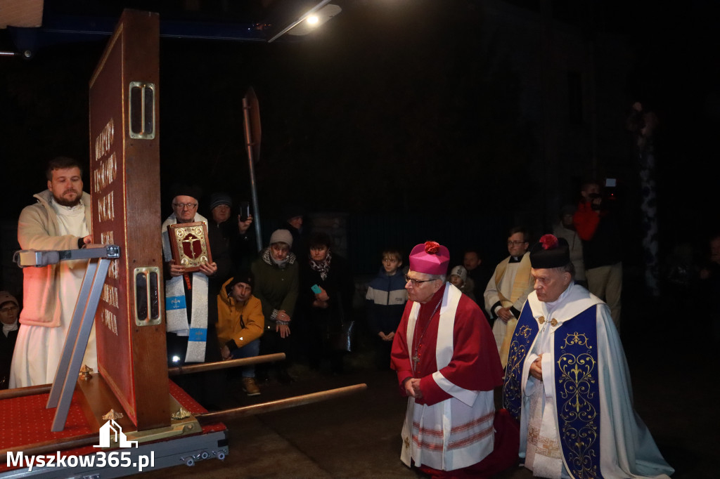
MULTIPOLYGON (((225 281, 217 295, 217 339, 222 359, 257 356, 265 326, 260 300, 253 296, 253 273, 243 271, 225 281)), ((243 367, 243 391, 258 396, 255 366, 243 367)))

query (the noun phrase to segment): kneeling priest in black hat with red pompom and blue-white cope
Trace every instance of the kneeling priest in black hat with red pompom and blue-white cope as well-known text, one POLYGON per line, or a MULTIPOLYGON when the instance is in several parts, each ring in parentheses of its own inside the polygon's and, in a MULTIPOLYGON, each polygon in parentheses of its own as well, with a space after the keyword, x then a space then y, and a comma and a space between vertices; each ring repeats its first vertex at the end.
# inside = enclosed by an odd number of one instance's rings
POLYGON ((530 252, 534 292, 510 343, 503 404, 520 421, 520 457, 542 478, 667 478, 632 404, 608 306, 573 283, 564 239, 530 252))

